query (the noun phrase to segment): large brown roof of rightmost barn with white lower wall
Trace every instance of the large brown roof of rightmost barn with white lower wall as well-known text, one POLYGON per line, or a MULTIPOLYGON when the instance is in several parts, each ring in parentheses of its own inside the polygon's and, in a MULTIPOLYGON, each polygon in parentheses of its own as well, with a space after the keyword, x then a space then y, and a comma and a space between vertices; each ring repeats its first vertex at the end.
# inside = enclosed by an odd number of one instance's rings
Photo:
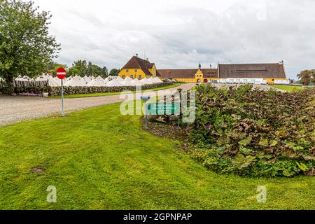
POLYGON ((282 63, 219 64, 219 78, 286 78, 282 63))

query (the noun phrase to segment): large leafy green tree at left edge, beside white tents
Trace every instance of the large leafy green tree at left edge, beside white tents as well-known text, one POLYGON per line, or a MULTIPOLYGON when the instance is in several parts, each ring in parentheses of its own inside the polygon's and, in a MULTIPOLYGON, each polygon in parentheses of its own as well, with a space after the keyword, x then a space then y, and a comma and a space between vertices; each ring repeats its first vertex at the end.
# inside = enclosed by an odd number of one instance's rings
POLYGON ((8 94, 13 92, 15 77, 37 76, 57 57, 60 45, 48 34, 50 18, 32 1, 0 1, 0 74, 8 94))

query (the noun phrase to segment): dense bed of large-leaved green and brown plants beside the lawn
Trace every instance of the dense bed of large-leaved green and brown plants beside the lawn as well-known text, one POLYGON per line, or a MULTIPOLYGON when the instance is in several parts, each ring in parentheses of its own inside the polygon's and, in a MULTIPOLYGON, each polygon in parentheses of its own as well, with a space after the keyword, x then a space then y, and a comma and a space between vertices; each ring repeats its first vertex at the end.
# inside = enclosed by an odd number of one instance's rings
POLYGON ((241 176, 315 175, 315 88, 196 90, 188 132, 204 166, 241 176))

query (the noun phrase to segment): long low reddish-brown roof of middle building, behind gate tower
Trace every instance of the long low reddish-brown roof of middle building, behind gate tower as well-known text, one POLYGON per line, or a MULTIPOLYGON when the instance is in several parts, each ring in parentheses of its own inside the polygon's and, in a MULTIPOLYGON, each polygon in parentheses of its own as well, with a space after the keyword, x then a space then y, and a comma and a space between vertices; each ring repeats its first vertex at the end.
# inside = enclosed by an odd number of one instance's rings
MULTIPOLYGON (((200 69, 204 78, 217 78, 218 69, 200 69)), ((158 69, 162 78, 195 78, 198 69, 158 69)))

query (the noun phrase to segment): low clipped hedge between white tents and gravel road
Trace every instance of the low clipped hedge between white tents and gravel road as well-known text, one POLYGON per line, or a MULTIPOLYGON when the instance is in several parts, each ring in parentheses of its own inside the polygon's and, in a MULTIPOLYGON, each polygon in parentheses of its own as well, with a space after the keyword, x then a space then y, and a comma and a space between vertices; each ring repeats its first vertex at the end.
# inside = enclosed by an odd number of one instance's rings
MULTIPOLYGON (((158 87, 165 87, 167 85, 172 85, 172 83, 155 83, 149 85, 142 85, 141 90, 149 90, 158 87)), ((89 94, 97 92, 123 92, 123 91, 135 91, 135 86, 111 86, 111 87, 64 87, 64 94, 89 94)), ((41 94, 43 92, 48 92, 49 96, 61 95, 61 87, 15 87, 15 94, 22 93, 34 93, 41 94)), ((0 94, 6 94, 6 87, 0 87, 0 94)))

